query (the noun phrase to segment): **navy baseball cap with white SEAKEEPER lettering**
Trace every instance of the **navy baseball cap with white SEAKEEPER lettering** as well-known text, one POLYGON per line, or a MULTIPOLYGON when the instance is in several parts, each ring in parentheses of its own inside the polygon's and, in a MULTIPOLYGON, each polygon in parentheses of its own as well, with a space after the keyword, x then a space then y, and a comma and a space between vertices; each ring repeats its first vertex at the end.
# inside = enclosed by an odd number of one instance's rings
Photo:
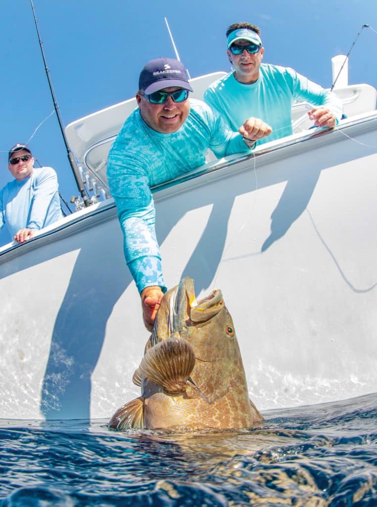
POLYGON ((184 90, 193 91, 184 65, 174 58, 156 58, 148 61, 140 73, 139 90, 149 95, 169 86, 179 86, 184 90))

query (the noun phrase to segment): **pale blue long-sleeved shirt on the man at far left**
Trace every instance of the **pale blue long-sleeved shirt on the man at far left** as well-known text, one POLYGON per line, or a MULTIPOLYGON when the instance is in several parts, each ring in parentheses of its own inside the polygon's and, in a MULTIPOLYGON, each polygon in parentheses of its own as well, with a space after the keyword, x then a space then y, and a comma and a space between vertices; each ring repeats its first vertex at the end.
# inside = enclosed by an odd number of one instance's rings
POLYGON ((34 168, 28 178, 14 179, 0 190, 0 231, 6 224, 12 238, 20 229, 40 230, 62 216, 52 167, 34 168))

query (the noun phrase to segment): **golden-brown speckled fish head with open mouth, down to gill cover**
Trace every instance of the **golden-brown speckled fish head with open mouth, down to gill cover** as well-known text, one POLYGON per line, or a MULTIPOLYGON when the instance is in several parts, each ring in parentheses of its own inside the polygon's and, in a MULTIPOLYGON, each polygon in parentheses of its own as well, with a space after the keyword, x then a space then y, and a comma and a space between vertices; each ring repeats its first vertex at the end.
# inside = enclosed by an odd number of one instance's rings
POLYGON ((151 344, 168 337, 186 340, 195 352, 191 375, 195 384, 210 401, 227 392, 235 369, 243 371, 243 366, 233 319, 221 291, 216 289, 197 300, 194 280, 183 278, 165 294, 156 320, 151 344))

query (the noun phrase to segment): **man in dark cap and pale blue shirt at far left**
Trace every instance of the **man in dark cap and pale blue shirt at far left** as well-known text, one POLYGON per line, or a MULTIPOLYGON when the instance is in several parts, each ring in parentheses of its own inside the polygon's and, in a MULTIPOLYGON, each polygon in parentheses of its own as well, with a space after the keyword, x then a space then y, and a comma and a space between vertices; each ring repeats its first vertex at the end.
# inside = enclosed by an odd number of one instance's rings
POLYGON ((63 216, 56 172, 52 167, 34 168, 33 164, 26 144, 15 144, 9 150, 8 169, 15 179, 0 190, 0 231, 7 225, 18 243, 63 216))

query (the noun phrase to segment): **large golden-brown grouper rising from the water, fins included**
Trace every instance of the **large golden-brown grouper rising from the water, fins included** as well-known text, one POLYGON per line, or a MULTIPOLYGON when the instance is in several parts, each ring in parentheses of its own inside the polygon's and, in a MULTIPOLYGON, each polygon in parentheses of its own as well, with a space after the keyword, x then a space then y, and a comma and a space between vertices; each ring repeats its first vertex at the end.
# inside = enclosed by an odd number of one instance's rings
POLYGON ((197 302, 192 278, 164 295, 133 381, 141 396, 111 417, 110 428, 228 429, 263 420, 249 400, 221 291, 197 302))

